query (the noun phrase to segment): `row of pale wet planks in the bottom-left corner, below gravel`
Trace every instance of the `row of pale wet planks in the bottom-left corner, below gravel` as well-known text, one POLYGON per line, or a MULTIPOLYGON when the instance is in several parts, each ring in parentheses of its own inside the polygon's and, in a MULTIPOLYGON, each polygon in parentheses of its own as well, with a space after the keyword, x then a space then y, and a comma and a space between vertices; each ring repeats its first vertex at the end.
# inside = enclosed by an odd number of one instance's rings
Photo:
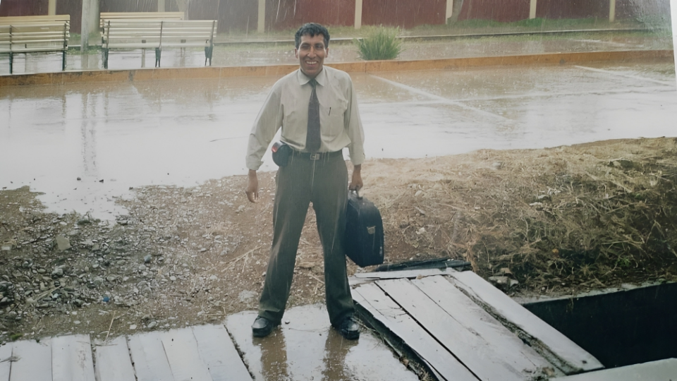
POLYGON ((16 341, 0 346, 0 361, 0 381, 252 380, 223 325, 122 336, 94 346, 87 335, 16 341))

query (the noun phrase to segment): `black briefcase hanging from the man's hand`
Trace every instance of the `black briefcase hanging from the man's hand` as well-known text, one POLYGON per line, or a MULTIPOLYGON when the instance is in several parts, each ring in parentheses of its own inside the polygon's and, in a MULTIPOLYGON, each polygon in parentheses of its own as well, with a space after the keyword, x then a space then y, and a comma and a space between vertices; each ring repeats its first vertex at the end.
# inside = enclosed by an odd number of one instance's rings
POLYGON ((343 248, 360 267, 383 263, 383 220, 374 202, 348 192, 346 234, 343 248))

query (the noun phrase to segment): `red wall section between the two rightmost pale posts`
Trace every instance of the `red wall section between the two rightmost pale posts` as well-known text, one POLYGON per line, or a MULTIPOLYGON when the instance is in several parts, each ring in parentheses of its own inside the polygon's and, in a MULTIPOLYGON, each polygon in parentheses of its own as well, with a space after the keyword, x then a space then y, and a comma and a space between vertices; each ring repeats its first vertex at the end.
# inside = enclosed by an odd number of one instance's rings
POLYGON ((609 18, 609 0, 538 0, 538 18, 609 18))

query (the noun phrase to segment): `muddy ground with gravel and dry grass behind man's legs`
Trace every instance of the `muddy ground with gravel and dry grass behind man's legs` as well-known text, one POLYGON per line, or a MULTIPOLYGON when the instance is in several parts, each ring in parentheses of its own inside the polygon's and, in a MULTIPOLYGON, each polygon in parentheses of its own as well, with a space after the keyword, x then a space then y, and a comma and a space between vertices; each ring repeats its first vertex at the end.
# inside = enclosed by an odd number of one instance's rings
MULTIPOLYGON (((382 212, 386 261, 467 260, 513 296, 677 281, 677 139, 370 160, 362 195, 382 212)), ((216 322, 257 307, 274 174, 149 186, 106 222, 48 214, 0 191, 0 343, 104 338, 216 322)), ((349 274, 360 269, 350 262, 349 274)), ((324 300, 310 213, 290 306, 324 300)))

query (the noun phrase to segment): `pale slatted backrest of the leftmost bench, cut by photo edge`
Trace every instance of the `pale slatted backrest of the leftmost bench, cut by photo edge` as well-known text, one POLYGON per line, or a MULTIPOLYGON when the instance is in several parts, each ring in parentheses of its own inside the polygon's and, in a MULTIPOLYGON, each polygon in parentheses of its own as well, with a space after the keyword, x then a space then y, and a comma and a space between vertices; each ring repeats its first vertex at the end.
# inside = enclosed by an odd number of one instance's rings
POLYGON ((68 49, 66 21, 0 24, 0 52, 58 52, 68 49))

